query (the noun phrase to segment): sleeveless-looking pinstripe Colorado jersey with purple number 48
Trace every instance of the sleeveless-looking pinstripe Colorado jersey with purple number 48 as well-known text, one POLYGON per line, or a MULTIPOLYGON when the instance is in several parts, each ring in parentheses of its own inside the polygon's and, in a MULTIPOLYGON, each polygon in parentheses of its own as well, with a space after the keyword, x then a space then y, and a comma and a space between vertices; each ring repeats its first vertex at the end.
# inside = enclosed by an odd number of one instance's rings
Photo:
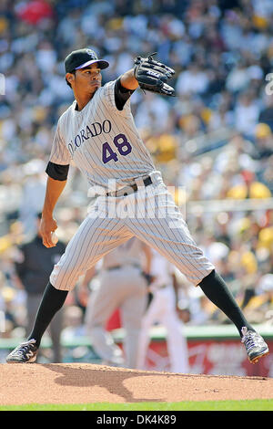
POLYGON ((132 183, 136 177, 155 171, 152 158, 136 130, 130 99, 116 109, 115 83, 96 90, 85 108, 76 110, 76 100, 57 123, 50 162, 75 163, 90 186, 108 185, 108 180, 132 183))

